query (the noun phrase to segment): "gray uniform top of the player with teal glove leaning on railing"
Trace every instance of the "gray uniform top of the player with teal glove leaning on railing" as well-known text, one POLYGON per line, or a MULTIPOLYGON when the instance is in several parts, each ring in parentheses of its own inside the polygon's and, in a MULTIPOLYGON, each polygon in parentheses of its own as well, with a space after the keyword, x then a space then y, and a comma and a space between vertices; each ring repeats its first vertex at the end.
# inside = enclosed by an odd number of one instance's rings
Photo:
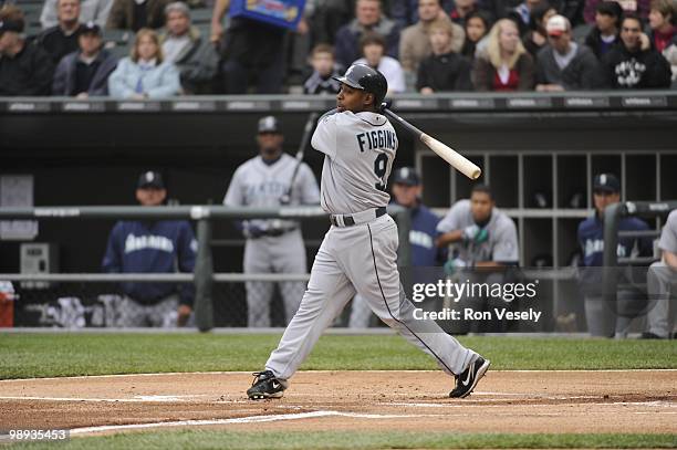
MULTIPOLYGON (((475 224, 475 220, 470 212, 470 200, 459 200, 454 203, 447 216, 437 224, 437 231, 447 233, 454 230, 462 230, 472 224, 475 224)), ((467 242, 455 244, 458 258, 468 263, 477 261, 518 262, 520 257, 517 228, 512 219, 498 208, 493 208, 491 219, 485 228, 489 232, 487 241, 479 244, 467 242)))

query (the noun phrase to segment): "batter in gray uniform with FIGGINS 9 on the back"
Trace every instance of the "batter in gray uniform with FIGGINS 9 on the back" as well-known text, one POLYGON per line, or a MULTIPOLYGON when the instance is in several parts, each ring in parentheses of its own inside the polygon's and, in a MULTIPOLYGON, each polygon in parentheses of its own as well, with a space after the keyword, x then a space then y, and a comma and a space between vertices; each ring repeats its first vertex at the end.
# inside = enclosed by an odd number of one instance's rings
POLYGON ((264 370, 253 374, 247 395, 251 399, 282 397, 320 335, 360 293, 383 322, 456 376, 450 397, 466 397, 489 368, 489 360, 433 321, 412 323, 415 308, 399 283, 397 226, 386 213, 386 185, 398 139, 379 114, 387 82, 366 65, 352 65, 338 81, 337 108, 320 119, 311 142, 324 154, 321 205, 332 227, 315 257, 299 311, 264 370))

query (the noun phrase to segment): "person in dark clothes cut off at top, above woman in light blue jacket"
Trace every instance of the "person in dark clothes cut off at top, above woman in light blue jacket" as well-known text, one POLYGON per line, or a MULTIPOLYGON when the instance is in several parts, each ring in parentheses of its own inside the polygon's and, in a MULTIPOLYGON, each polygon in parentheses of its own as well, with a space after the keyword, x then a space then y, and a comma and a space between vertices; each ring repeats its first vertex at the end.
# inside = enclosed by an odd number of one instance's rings
POLYGON ((142 28, 159 29, 165 25, 165 8, 171 0, 113 0, 106 27, 114 30, 142 28))

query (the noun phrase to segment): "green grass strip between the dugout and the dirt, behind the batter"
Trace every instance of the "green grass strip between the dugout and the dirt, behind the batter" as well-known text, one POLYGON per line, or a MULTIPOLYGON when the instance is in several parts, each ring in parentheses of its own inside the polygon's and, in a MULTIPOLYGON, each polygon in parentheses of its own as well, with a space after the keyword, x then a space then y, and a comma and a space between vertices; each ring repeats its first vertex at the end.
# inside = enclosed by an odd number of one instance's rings
MULTIPOLYGON (((0 334, 0 378, 259 370, 279 335, 0 334)), ((461 337, 493 369, 677 368, 674 341, 461 337)), ((435 369, 395 335, 323 336, 301 369, 435 369)))

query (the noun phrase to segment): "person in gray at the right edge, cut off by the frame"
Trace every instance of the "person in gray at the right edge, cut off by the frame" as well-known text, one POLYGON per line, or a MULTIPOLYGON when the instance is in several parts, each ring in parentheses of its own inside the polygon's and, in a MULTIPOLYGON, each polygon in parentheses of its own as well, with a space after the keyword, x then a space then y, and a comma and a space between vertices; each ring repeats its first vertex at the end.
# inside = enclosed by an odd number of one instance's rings
POLYGON ((677 210, 668 216, 660 232, 658 248, 660 261, 650 265, 647 273, 649 311, 647 313, 644 338, 669 338, 675 336, 675 314, 677 312, 677 210))

